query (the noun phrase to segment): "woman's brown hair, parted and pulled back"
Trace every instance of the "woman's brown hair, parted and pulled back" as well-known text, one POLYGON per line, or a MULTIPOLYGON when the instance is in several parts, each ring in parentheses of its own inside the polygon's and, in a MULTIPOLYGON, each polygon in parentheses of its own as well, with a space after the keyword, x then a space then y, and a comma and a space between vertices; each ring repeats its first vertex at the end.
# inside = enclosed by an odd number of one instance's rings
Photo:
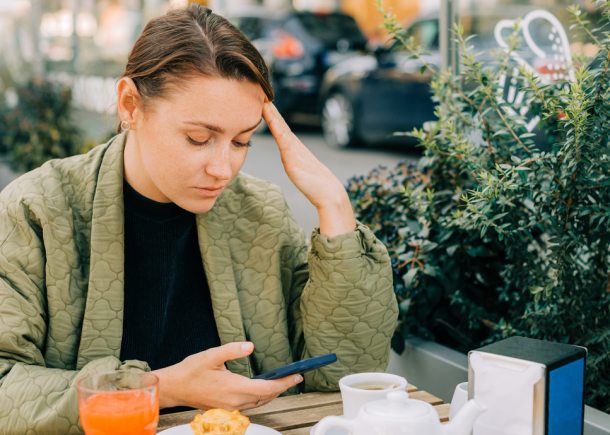
POLYGON ((144 108, 150 99, 168 97, 172 88, 196 75, 259 84, 273 101, 269 69, 258 50, 226 18, 197 3, 150 20, 121 78, 134 81, 144 108))

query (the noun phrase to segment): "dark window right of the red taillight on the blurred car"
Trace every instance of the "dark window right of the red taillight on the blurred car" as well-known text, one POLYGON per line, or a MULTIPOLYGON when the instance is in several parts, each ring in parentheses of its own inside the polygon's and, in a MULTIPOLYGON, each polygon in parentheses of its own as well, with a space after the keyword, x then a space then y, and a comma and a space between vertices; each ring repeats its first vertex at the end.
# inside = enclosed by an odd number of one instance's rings
POLYGON ((336 49, 340 40, 347 41, 347 48, 351 49, 361 49, 366 45, 364 34, 349 15, 300 13, 297 17, 307 33, 322 41, 327 48, 336 49))

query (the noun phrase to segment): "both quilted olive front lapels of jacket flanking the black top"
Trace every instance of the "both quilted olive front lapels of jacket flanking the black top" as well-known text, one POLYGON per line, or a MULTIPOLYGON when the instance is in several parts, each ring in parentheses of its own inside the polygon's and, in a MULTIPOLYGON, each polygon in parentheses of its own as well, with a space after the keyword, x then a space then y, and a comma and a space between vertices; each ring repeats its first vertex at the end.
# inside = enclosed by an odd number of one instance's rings
MULTIPOLYGON (((99 358, 119 358, 121 353, 125 261, 123 151, 126 137, 126 133, 122 133, 107 145, 97 176, 91 221, 89 288, 77 370, 99 358)), ((229 250, 229 233, 219 216, 217 204, 209 212, 197 215, 197 233, 218 335, 221 344, 227 344, 245 341, 246 334, 229 250)), ((252 374, 249 358, 228 361, 226 366, 234 373, 252 374)))

